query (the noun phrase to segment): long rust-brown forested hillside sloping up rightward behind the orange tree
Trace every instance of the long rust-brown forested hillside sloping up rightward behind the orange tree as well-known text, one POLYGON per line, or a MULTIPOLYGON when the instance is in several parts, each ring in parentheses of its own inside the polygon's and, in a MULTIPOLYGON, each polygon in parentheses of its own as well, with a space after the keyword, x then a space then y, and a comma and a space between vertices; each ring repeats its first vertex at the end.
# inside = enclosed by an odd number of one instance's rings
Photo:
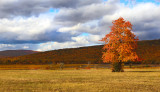
MULTIPOLYGON (((0 58, 1 64, 85 64, 103 63, 103 45, 39 52, 13 58, 0 58)), ((137 53, 142 63, 160 63, 160 40, 139 41, 137 53)))

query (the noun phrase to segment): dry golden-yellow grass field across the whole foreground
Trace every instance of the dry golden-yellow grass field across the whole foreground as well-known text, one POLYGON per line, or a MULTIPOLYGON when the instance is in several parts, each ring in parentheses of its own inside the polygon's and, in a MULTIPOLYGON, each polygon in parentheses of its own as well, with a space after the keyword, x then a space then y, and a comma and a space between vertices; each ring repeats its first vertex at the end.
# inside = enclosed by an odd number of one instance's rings
POLYGON ((160 69, 0 70, 0 92, 160 92, 160 69))

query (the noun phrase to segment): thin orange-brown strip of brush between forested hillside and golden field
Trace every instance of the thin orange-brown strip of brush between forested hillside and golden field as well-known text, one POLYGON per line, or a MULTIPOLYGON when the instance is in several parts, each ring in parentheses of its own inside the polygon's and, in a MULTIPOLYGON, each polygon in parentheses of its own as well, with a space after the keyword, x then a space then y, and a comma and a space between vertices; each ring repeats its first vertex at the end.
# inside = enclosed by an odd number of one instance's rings
MULTIPOLYGON (((110 64, 64 64, 64 69, 77 69, 77 68, 111 68, 110 64)), ((133 64, 132 68, 157 68, 160 67, 160 65, 145 65, 145 64, 133 64)), ((125 65, 124 68, 130 68, 129 65, 125 65)), ((59 70, 60 65, 59 64, 47 64, 47 65, 0 65, 0 70, 59 70)))

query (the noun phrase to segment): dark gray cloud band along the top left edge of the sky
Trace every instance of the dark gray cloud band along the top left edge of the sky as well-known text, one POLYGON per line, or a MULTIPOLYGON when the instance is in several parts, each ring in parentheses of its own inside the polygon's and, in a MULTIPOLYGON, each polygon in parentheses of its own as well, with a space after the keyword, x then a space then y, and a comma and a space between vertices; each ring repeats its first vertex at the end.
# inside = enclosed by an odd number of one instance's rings
POLYGON ((50 8, 76 8, 101 0, 12 0, 0 1, 0 18, 15 16, 38 16, 50 8))

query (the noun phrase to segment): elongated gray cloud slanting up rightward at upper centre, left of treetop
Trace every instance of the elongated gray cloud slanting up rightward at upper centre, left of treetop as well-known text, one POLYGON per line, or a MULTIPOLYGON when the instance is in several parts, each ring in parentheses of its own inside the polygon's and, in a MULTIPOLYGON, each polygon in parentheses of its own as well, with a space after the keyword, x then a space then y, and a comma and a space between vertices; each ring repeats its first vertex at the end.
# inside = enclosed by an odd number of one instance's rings
POLYGON ((62 9, 55 16, 55 21, 60 25, 75 25, 92 20, 99 20, 104 15, 111 15, 118 9, 118 5, 113 2, 91 4, 79 8, 62 9))

